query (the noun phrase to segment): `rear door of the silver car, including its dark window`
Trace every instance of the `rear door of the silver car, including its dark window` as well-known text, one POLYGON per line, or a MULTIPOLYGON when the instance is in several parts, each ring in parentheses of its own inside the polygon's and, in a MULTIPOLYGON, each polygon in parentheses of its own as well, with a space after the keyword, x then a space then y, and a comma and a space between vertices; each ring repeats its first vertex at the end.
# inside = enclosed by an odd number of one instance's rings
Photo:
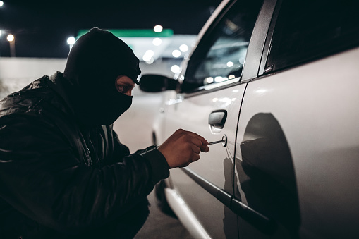
POLYGON ((232 202, 272 230, 239 216, 240 238, 358 238, 358 1, 279 5, 243 97, 232 202))

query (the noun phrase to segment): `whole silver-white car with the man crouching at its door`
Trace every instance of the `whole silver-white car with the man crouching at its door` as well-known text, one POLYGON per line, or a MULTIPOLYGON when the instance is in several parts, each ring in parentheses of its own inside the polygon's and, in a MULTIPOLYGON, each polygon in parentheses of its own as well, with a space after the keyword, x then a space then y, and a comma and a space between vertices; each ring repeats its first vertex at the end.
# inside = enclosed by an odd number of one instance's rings
POLYGON ((208 153, 157 195, 195 238, 359 238, 359 1, 224 0, 154 124, 208 153))

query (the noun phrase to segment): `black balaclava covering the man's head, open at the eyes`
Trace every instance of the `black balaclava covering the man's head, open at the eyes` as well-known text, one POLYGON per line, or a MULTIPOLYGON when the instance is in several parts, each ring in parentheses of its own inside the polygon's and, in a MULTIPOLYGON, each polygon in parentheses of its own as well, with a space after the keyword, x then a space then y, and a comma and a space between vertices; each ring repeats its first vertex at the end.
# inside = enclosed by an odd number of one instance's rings
POLYGON ((125 42, 99 28, 92 28, 73 44, 63 76, 81 124, 109 125, 130 107, 132 96, 118 92, 115 81, 126 75, 138 84, 139 62, 125 42))

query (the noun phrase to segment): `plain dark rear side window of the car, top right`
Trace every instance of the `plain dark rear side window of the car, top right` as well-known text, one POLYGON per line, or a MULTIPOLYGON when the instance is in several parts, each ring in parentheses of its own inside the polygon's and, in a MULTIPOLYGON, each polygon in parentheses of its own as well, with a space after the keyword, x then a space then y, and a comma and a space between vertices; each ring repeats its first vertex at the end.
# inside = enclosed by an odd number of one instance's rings
POLYGON ((283 1, 266 68, 279 70, 358 46, 358 23, 357 0, 283 1))

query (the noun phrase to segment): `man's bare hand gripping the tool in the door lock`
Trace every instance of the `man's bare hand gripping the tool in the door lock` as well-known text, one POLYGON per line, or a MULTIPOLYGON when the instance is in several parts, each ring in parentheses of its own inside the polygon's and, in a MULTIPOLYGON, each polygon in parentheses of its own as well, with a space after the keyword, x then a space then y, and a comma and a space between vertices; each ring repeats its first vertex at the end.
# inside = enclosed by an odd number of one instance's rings
POLYGON ((208 142, 196 133, 176 130, 158 147, 170 168, 185 167, 200 159, 200 152, 208 152, 208 142))

